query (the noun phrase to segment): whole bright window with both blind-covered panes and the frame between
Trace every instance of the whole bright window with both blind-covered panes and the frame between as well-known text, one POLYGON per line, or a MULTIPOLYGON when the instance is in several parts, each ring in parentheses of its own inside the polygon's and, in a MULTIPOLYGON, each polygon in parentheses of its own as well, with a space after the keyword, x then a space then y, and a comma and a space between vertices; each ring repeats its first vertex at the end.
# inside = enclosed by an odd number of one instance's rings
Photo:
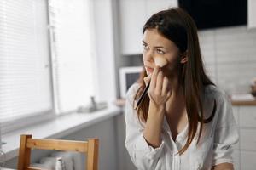
POLYGON ((89 6, 89 0, 0 1, 3 133, 17 120, 74 111, 94 95, 89 6))

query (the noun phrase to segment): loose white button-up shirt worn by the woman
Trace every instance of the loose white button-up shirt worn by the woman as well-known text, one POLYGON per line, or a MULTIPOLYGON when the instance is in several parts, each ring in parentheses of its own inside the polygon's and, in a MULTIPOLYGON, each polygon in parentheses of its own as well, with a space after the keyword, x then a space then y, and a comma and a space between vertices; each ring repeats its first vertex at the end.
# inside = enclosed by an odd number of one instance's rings
POLYGON ((189 148, 182 155, 177 154, 187 141, 188 124, 181 133, 178 133, 176 141, 172 139, 172 132, 166 121, 162 125, 162 143, 158 148, 153 148, 143 138, 145 123, 138 120, 137 111, 133 108, 133 101, 138 83, 128 90, 125 104, 126 139, 125 147, 128 150, 131 161, 140 170, 197 170, 211 169, 219 163, 233 163, 232 145, 239 139, 236 122, 232 113, 230 100, 224 91, 209 85, 205 88, 203 97, 204 117, 212 114, 213 100, 216 100, 217 108, 211 122, 204 124, 199 144, 196 144, 200 122, 197 132, 189 148))

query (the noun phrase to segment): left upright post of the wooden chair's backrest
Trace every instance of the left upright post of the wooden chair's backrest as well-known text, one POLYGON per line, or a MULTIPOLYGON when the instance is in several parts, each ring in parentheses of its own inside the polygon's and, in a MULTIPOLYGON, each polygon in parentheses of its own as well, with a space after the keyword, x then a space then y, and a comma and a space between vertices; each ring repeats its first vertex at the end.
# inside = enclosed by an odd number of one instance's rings
POLYGON ((32 135, 22 134, 20 136, 20 150, 19 150, 19 161, 18 170, 24 170, 30 165, 31 149, 26 147, 27 139, 31 139, 32 135))

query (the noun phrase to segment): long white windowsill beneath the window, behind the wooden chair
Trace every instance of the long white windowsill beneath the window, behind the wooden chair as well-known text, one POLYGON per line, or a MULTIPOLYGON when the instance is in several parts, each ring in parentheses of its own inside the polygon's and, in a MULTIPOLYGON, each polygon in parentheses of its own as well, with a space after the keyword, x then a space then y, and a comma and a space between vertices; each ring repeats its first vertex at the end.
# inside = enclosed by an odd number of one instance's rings
POLYGON ((2 148, 6 154, 5 160, 18 156, 20 134, 33 134, 33 137, 37 139, 60 139, 120 113, 120 108, 115 105, 109 105, 107 109, 95 111, 94 113, 71 113, 59 116, 49 122, 42 122, 31 127, 24 127, 11 133, 3 134, 3 141, 7 141, 7 144, 3 144, 2 148))

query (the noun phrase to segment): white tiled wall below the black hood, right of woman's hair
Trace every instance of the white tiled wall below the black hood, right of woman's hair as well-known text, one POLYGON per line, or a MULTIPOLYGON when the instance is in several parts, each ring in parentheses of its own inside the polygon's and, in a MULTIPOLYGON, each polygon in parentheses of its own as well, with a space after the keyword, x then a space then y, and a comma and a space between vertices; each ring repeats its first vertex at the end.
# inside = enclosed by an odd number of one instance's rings
POLYGON ((230 93, 246 93, 256 77, 256 29, 234 26, 199 31, 201 54, 213 82, 230 93))

